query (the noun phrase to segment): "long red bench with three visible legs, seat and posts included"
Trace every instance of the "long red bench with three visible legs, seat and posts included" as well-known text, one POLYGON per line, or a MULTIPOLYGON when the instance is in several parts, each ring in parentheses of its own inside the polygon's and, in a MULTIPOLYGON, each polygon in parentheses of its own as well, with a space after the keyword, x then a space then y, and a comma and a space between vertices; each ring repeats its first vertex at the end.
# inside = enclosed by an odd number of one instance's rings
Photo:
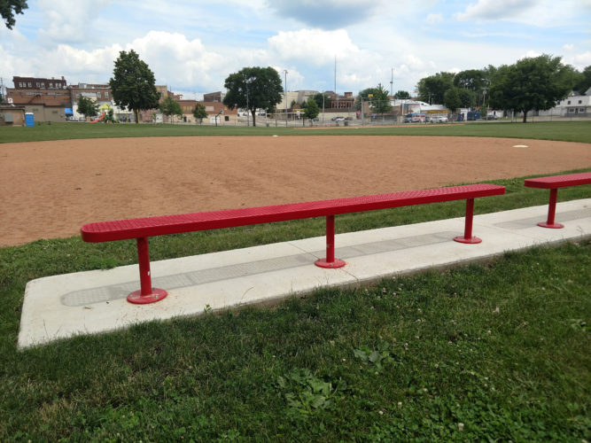
POLYGON ((461 243, 479 243, 481 240, 478 237, 472 237, 474 198, 501 195, 504 192, 504 186, 470 184, 449 188, 293 203, 290 205, 250 207, 119 221, 98 221, 85 224, 82 226, 81 232, 82 240, 92 243, 136 238, 141 289, 130 293, 128 301, 144 304, 164 299, 167 296, 166 291, 152 288, 148 237, 197 230, 231 228, 273 221, 326 217, 326 258, 316 260, 315 264, 322 268, 340 268, 346 263, 334 256, 334 217, 337 214, 466 199, 464 235, 454 239, 461 243))

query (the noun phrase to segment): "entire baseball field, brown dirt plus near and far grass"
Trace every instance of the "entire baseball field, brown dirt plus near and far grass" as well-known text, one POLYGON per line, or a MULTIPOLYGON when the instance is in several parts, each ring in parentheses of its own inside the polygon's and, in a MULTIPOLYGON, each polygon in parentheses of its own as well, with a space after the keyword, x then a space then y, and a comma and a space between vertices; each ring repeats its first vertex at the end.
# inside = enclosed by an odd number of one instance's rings
MULTIPOLYGON (((524 177, 591 170, 588 122, 28 129, 0 128, 0 440, 591 438, 588 237, 16 350, 28 281, 136 262, 132 241, 84 244, 85 222, 478 182, 507 193, 483 198, 477 214, 544 205, 547 192, 525 189, 524 177)), ((590 196, 590 186, 559 192, 590 196)), ((347 214, 338 229, 463 210, 449 202, 347 214)), ((291 221, 153 237, 151 253, 322 234, 322 220, 291 221)))

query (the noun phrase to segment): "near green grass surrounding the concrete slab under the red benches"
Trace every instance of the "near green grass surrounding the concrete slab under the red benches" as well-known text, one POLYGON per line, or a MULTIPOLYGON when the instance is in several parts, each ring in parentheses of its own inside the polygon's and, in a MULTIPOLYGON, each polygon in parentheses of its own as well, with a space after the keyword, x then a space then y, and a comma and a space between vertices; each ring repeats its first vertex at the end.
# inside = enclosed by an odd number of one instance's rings
MULTIPOLYGON (((477 214, 547 203, 523 177, 495 183, 507 194, 478 199, 477 214)), ((349 214, 337 228, 463 211, 448 202, 349 214)), ((323 229, 313 219, 153 237, 152 259, 323 229)), ((588 440, 590 257, 581 240, 17 352, 27 281, 135 263, 136 249, 79 237, 2 248, 0 441, 588 440)))

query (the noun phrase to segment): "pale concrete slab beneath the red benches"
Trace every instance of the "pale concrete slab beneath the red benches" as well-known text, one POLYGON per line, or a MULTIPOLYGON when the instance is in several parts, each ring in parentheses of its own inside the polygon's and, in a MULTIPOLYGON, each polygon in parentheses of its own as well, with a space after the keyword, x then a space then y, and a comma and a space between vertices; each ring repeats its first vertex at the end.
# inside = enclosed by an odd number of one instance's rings
POLYGON ((200 315, 210 308, 274 302, 320 287, 367 283, 591 236, 591 198, 557 205, 556 221, 564 229, 536 225, 547 211, 548 206, 534 206, 477 215, 473 233, 483 240, 477 245, 453 241, 463 234, 463 217, 340 234, 336 256, 347 264, 337 269, 314 266, 324 257, 324 237, 153 261, 152 284, 166 289, 168 297, 150 305, 126 300, 139 287, 137 265, 39 278, 25 290, 18 346, 200 315))

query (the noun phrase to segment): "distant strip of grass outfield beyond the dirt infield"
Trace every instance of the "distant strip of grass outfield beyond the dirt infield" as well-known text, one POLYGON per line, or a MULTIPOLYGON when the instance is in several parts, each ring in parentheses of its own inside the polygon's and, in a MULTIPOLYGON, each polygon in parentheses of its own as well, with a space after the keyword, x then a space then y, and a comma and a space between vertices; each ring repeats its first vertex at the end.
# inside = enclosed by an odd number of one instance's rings
POLYGON ((474 122, 385 128, 245 128, 172 124, 53 123, 33 128, 0 127, 0 143, 137 136, 486 136, 591 143, 591 122, 474 122))

